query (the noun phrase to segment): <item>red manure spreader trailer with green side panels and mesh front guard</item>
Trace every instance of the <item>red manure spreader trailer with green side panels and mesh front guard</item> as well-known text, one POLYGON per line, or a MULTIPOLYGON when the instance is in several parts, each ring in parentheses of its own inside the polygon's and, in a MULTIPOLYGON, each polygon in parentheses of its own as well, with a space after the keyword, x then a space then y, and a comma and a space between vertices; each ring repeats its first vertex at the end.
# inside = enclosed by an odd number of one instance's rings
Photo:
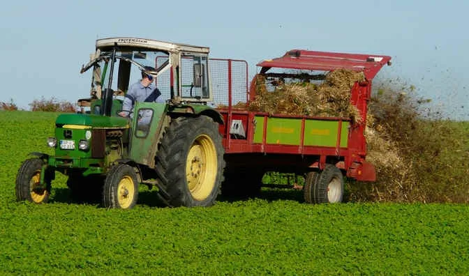
POLYGON ((363 118, 356 122, 351 118, 236 109, 238 102, 255 97, 254 85, 248 89, 247 63, 212 59, 214 103, 225 105, 218 108, 225 121, 219 129, 226 161, 222 193, 257 191, 266 171, 306 174, 305 199, 311 203, 342 201, 343 176, 375 181, 375 168, 366 162, 367 103, 373 77, 382 66, 390 65, 390 60, 390 56, 292 49, 257 64, 260 75, 274 78, 295 78, 297 73, 306 73, 311 79, 320 79, 315 76, 341 68, 363 72, 365 80, 356 82, 350 91, 350 101, 363 118))

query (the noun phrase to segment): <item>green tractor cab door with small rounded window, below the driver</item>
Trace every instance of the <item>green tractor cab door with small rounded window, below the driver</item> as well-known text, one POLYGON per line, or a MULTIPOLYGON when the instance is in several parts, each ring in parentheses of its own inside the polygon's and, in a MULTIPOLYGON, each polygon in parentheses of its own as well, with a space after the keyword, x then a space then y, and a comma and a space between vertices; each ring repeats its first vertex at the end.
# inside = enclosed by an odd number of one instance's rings
POLYGON ((135 102, 128 157, 138 164, 154 167, 166 111, 167 105, 164 103, 135 102))

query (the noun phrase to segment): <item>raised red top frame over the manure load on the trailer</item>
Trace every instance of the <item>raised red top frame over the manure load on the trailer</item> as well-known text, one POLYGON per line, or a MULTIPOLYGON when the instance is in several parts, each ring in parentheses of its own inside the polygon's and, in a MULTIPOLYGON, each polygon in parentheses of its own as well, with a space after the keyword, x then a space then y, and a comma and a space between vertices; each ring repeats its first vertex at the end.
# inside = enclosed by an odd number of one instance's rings
POLYGON ((270 68, 320 71, 343 68, 364 72, 366 79, 373 79, 382 66, 391 65, 390 61, 391 56, 376 54, 345 54, 292 49, 279 58, 261 61, 257 66, 262 67, 261 73, 267 72, 270 68))

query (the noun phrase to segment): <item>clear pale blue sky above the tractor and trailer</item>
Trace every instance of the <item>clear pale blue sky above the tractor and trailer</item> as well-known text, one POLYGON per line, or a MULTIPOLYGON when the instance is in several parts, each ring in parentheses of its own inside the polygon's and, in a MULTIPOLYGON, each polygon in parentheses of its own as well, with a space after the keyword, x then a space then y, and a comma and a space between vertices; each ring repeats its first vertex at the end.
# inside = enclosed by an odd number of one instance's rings
POLYGON ((469 119, 469 1, 6 1, 0 101, 89 95, 80 75, 96 38, 208 46, 211 57, 262 59, 288 49, 386 54, 378 79, 401 79, 452 118, 469 119), (171 6, 174 5, 174 6, 171 6), (463 106, 463 107, 462 107, 463 106))

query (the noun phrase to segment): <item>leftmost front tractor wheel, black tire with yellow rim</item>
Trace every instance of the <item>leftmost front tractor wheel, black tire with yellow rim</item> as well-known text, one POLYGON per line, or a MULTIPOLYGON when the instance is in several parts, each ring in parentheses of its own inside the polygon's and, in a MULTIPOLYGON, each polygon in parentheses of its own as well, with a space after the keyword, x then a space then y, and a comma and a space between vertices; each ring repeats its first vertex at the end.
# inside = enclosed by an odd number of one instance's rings
POLYGON ((38 158, 23 162, 16 176, 16 200, 31 201, 36 204, 46 203, 50 197, 50 176, 44 176, 45 187, 40 185, 40 173, 45 162, 38 158))

